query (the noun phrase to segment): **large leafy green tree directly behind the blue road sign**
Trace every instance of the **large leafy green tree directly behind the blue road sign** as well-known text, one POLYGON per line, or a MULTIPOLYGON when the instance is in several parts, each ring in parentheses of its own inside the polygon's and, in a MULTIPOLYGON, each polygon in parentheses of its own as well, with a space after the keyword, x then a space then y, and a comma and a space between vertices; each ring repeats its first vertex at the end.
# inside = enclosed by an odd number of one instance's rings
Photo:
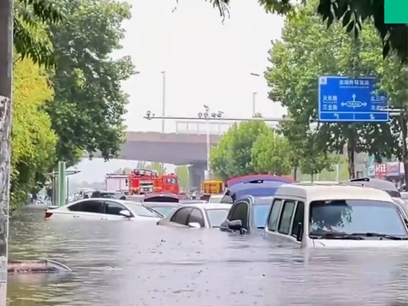
MULTIPOLYGON (((287 18, 282 41, 273 42, 270 50, 271 68, 265 73, 271 87, 269 96, 275 101, 281 101, 296 122, 281 125, 289 141, 295 137, 297 141, 304 142, 302 139, 306 138, 302 130, 307 131, 310 122, 317 120, 319 76, 361 76, 373 73, 374 66, 364 65, 361 60, 366 50, 373 52, 371 49, 377 47, 378 50, 380 45, 378 36, 373 35, 373 26, 363 29, 359 41, 354 41, 344 33, 340 25, 334 25, 327 30, 328 33, 325 30, 315 12, 314 2, 310 1, 287 18), (299 126, 302 126, 300 130, 299 126)), ((354 152, 366 151, 388 157, 398 148, 398 135, 388 123, 322 124, 315 136, 315 149, 310 151, 310 146, 303 148, 308 149, 310 154, 321 152, 318 160, 329 157, 332 152, 342 151, 347 144, 350 177, 355 175, 354 152)), ((300 147, 298 143, 293 146, 293 141, 291 144, 292 147, 300 147)), ((313 154, 308 155, 310 157, 313 154)))

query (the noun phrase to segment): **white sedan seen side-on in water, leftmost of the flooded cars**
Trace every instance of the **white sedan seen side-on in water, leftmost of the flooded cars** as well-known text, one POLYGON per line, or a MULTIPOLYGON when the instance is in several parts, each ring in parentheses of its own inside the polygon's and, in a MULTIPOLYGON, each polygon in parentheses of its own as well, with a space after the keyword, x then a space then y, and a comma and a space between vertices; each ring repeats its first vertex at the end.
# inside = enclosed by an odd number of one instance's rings
POLYGON ((45 219, 150 220, 163 216, 141 203, 112 198, 86 198, 62 207, 48 207, 45 219))

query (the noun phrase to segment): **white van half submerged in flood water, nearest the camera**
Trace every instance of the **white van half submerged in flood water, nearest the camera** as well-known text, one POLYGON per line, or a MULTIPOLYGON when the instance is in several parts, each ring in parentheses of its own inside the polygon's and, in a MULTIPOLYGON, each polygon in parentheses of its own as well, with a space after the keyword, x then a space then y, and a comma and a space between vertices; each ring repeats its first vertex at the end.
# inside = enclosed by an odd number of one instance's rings
POLYGON ((382 190, 287 184, 269 210, 265 238, 299 247, 406 247, 405 216, 382 190))

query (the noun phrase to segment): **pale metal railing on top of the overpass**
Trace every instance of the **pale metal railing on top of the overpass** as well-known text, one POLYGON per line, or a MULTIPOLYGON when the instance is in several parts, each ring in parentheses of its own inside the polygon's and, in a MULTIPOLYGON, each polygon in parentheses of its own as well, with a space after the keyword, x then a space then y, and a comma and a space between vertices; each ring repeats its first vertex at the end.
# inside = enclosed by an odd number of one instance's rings
MULTIPOLYGON (((234 124, 235 122, 203 122, 200 121, 176 121, 176 133, 177 134, 193 134, 193 135, 205 135, 207 134, 207 128, 210 129, 211 135, 222 135, 234 124)), ((277 122, 265 122, 270 127, 277 126, 277 122)))

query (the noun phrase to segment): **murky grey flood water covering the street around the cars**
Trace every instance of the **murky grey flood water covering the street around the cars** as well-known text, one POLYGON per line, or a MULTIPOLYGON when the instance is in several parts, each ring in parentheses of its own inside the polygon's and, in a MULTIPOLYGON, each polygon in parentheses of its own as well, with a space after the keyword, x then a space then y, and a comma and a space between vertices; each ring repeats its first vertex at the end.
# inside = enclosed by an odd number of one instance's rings
POLYGON ((406 305, 408 252, 300 250, 219 230, 122 221, 11 225, 11 259, 53 259, 62 275, 9 277, 9 305, 406 305))

